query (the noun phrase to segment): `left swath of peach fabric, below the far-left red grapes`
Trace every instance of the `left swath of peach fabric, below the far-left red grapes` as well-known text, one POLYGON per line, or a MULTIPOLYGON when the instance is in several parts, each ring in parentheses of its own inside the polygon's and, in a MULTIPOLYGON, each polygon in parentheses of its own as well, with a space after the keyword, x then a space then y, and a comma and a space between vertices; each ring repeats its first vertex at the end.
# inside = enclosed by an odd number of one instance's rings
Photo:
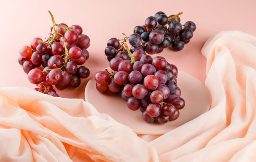
POLYGON ((1 134, 1 161, 158 161, 150 144, 82 99, 0 88, 0 125, 13 132, 1 134))

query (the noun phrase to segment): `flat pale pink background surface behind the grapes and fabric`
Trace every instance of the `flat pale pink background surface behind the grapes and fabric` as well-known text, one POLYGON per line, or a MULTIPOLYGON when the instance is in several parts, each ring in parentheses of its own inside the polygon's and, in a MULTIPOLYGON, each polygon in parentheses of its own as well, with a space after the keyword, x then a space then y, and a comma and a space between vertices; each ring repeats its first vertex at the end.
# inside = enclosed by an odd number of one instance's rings
POLYGON ((57 90, 62 97, 84 99, 88 80, 97 71, 108 67, 104 54, 108 39, 122 39, 122 33, 132 34, 135 26, 143 25, 145 19, 157 11, 166 15, 183 12, 180 16, 182 23, 193 21, 197 25, 191 42, 182 51, 165 49, 158 55, 204 83, 206 59, 201 54, 204 42, 220 31, 239 30, 256 35, 255 7, 255 0, 1 1, 0 87, 36 87, 28 81, 27 74, 18 64, 19 49, 29 45, 34 37, 48 36, 52 22, 47 10, 52 12, 56 23, 78 24, 83 28, 83 34, 90 37, 90 58, 85 63, 90 69, 90 77, 83 79, 79 88, 57 90))

